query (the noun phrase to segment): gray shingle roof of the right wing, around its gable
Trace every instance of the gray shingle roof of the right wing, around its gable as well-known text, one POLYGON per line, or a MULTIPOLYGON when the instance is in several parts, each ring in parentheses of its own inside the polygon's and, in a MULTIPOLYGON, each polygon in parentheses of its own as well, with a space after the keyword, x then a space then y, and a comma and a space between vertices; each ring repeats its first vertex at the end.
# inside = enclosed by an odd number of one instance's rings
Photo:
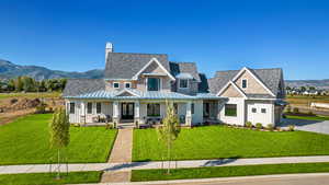
MULTIPOLYGON (((283 78, 282 69, 281 68, 269 68, 269 69, 250 69, 248 68, 256 77, 259 78, 260 81, 264 83, 269 90, 279 96, 282 92, 279 91, 279 84, 283 78)), ((234 77, 240 70, 228 70, 228 71, 217 71, 215 77, 208 79, 209 91, 212 93, 218 93, 224 85, 229 80, 232 80, 234 77)), ((254 95, 254 94, 247 94, 250 97, 268 97, 268 95, 254 95)))

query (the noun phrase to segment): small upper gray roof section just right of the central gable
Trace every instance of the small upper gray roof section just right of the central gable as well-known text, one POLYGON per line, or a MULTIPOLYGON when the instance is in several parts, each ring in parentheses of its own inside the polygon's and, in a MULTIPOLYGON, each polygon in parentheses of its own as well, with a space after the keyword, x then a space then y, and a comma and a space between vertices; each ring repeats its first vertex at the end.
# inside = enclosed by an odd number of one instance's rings
POLYGON ((190 73, 196 81, 201 81, 195 62, 170 61, 170 71, 174 77, 180 73, 190 73))

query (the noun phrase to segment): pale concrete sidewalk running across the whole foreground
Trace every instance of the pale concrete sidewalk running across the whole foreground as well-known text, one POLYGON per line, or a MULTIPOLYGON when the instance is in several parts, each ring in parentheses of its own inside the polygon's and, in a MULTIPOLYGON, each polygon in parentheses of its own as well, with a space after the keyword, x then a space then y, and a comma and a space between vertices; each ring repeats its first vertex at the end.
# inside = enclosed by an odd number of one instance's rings
MULTIPOLYGON (((172 161, 170 167, 204 167, 204 166, 228 166, 228 165, 253 165, 253 164, 277 164, 277 163, 310 163, 329 162, 329 155, 319 157, 286 157, 286 158, 253 158, 253 159, 223 159, 223 160, 195 160, 172 161), (175 165, 177 164, 177 165, 175 165)), ((161 169, 167 167, 164 162, 131 162, 131 163, 87 163, 69 164, 69 172, 79 171, 104 171, 104 172, 129 172, 132 170, 161 169)), ((55 169, 56 166, 53 165, 55 169)), ((61 165, 65 171, 66 166, 61 165)), ((49 172, 49 164, 34 165, 0 165, 0 174, 16 173, 42 173, 49 172)))

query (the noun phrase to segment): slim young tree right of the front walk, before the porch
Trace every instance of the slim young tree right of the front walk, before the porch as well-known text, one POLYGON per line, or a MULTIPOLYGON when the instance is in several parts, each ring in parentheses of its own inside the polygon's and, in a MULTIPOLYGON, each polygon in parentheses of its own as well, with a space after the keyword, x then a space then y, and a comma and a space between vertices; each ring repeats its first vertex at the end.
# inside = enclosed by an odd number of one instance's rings
POLYGON ((170 173, 171 147, 179 137, 180 131, 180 122, 174 113, 173 105, 167 103, 167 116, 163 118, 163 125, 157 128, 157 132, 159 140, 167 147, 168 174, 170 173))

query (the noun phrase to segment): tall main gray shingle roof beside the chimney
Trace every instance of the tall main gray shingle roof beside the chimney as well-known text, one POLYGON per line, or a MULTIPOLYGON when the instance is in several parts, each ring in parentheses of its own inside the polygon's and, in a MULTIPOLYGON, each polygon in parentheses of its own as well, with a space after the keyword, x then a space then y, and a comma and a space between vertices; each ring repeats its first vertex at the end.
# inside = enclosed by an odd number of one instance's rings
POLYGON ((134 54, 109 53, 105 65, 105 79, 132 79, 152 58, 169 71, 169 61, 166 54, 134 54))

